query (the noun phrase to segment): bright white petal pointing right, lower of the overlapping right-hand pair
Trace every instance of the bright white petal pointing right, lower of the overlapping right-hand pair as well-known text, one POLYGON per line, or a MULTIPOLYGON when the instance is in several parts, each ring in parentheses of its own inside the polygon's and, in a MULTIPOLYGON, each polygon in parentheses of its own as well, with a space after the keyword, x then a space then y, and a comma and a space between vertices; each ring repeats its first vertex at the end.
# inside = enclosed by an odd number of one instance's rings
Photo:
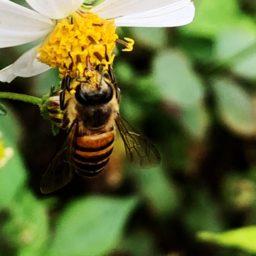
POLYGON ((178 4, 122 16, 114 20, 116 26, 174 27, 193 21, 195 6, 189 0, 178 4))

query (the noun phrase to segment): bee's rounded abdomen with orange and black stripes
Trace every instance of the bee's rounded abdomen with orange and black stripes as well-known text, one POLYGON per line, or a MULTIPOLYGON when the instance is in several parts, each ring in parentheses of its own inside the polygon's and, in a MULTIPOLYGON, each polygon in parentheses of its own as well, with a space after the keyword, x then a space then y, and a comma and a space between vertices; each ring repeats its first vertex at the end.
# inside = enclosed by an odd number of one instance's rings
POLYGON ((100 174, 110 159, 114 146, 114 131, 77 137, 74 164, 79 174, 100 174))

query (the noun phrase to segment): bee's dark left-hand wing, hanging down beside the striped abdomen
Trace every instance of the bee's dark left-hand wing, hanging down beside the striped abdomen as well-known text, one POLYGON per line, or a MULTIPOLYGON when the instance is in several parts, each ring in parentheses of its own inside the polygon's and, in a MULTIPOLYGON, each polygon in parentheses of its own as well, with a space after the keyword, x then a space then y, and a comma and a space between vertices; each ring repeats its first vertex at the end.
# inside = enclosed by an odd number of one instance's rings
POLYGON ((77 124, 73 123, 63 146, 53 157, 43 174, 41 192, 50 193, 65 186, 73 177, 74 139, 77 124))

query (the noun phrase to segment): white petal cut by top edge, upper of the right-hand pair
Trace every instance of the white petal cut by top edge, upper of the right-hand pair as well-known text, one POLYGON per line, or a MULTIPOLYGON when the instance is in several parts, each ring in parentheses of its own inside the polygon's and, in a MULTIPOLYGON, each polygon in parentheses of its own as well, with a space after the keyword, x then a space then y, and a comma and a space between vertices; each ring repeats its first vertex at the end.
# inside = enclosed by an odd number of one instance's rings
POLYGON ((90 11, 102 18, 117 18, 124 15, 137 14, 142 11, 160 9, 171 4, 182 3, 186 0, 105 0, 90 11))

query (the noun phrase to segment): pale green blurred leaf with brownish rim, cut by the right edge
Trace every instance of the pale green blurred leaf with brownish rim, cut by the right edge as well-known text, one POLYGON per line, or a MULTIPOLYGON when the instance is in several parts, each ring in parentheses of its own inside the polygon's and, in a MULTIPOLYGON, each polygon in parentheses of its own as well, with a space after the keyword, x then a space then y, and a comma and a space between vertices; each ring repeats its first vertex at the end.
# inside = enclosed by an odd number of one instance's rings
POLYGON ((218 114, 223 122, 238 134, 255 134, 256 120, 252 97, 238 84, 226 78, 213 81, 218 114))

